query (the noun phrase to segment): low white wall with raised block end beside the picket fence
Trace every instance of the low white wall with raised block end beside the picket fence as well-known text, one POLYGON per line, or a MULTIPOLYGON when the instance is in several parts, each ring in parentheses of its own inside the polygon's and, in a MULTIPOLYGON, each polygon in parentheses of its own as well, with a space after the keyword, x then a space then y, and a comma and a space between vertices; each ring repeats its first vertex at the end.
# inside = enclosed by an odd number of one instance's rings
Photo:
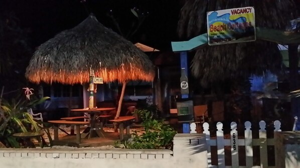
POLYGON ((174 152, 169 149, 27 148, 0 149, 0 168, 93 168, 93 167, 207 167, 205 137, 177 134, 174 152))

